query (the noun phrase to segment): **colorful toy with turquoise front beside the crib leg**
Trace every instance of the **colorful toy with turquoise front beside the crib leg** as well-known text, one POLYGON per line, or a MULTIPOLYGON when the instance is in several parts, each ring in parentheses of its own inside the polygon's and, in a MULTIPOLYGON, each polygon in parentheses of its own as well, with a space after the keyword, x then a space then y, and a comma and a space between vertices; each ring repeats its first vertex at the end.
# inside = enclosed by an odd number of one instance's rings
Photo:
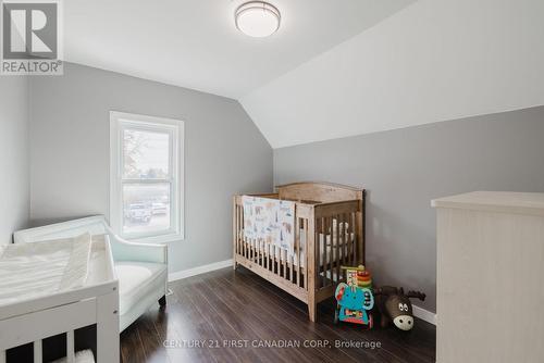
POLYGON ((336 287, 336 310, 334 313, 334 324, 348 322, 362 324, 372 328, 372 314, 367 313, 374 306, 374 298, 371 286, 372 279, 363 266, 342 267, 346 271, 346 283, 339 283, 336 287), (363 277, 360 279, 359 277, 363 277), (370 283, 370 285, 369 285, 370 283), (369 286, 361 287, 360 285, 369 286))

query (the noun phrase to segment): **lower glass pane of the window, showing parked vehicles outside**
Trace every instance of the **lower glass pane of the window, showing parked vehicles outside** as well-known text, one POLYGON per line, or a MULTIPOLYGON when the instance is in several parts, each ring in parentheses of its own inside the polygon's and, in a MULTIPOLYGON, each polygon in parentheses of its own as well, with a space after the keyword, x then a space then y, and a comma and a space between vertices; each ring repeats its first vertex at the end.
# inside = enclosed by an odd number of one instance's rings
POLYGON ((123 233, 170 229, 170 184, 123 185, 123 233))

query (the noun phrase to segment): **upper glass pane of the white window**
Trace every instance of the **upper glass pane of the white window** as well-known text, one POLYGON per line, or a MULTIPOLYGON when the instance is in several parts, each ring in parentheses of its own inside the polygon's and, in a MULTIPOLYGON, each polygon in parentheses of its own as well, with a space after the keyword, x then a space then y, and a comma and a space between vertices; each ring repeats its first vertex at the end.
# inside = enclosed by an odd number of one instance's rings
POLYGON ((123 133, 124 178, 158 179, 169 176, 170 135, 126 128, 123 133))

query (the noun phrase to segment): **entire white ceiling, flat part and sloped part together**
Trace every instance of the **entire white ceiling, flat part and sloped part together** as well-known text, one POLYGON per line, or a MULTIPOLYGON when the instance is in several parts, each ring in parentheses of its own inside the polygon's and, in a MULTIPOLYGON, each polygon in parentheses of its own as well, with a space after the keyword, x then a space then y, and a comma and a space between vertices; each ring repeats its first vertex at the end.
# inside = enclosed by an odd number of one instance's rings
POLYGON ((238 99, 273 148, 544 104, 542 0, 64 1, 65 59, 238 99))

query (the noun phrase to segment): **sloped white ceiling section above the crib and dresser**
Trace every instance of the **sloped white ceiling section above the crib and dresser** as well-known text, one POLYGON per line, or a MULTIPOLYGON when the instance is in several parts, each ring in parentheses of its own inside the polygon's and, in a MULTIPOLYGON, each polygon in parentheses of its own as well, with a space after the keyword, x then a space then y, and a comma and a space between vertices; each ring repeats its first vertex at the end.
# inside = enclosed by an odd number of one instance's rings
POLYGON ((240 102, 273 148, 544 104, 543 16, 419 0, 240 102))

